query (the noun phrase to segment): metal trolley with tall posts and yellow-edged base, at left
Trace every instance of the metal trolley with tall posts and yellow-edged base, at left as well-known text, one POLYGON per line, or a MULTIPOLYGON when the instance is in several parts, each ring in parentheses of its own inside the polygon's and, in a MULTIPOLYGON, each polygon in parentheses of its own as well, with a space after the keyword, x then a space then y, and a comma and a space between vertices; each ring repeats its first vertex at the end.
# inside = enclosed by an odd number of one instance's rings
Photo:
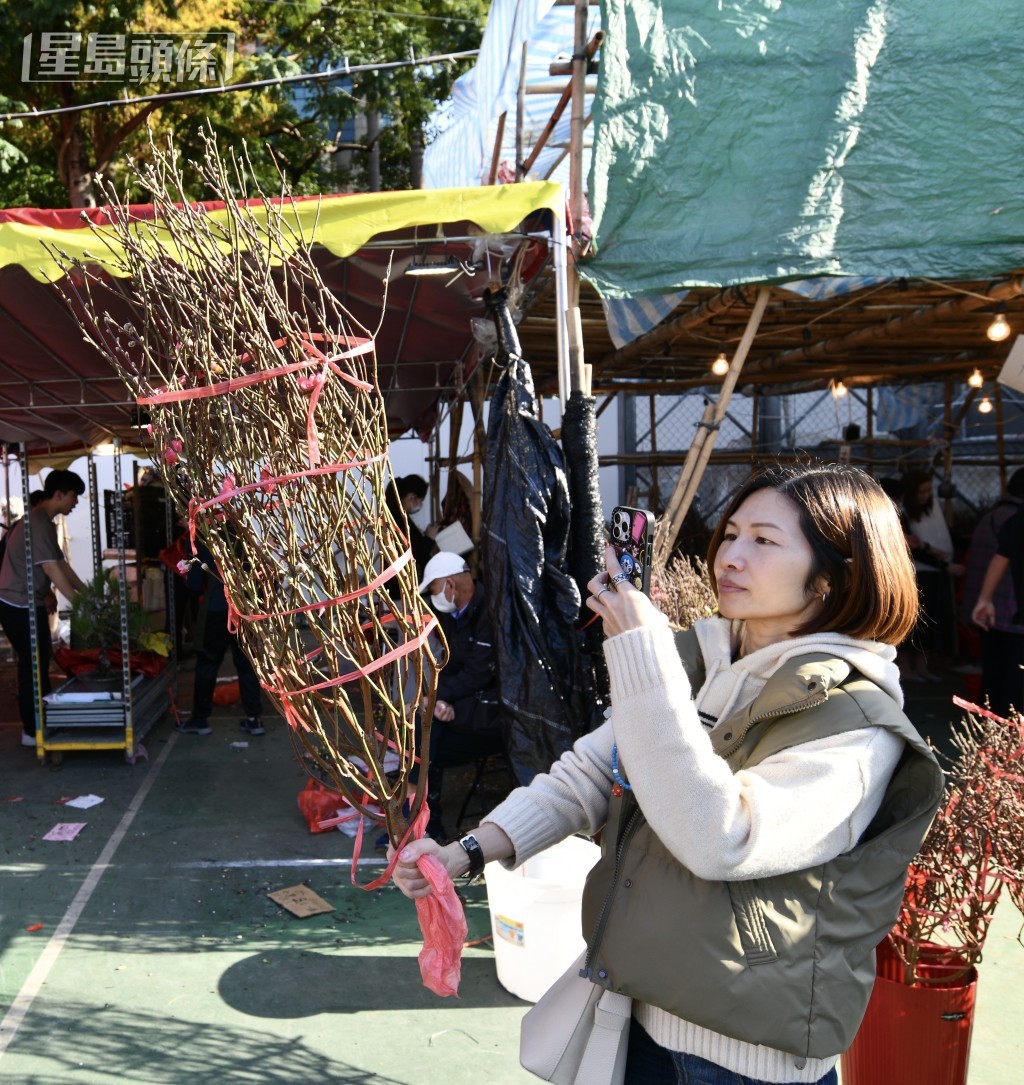
MULTIPOLYGON (((60 764, 67 750, 124 750, 125 760, 133 765, 145 757, 142 737, 167 711, 174 694, 176 659, 174 650, 164 667, 155 676, 132 674, 128 644, 128 578, 125 560, 125 516, 120 470, 120 442, 115 441, 114 493, 115 526, 117 538, 117 586, 120 601, 120 658, 119 666, 97 669, 77 675, 61 684, 47 697, 38 684, 36 702, 36 753, 41 761, 49 755, 51 764, 60 764)), ((22 450, 22 487, 25 507, 28 508, 28 457, 22 450)), ((102 567, 100 548, 99 502, 97 471, 89 457, 89 493, 92 498, 92 550, 97 572, 102 567)), ((167 535, 172 528, 172 512, 166 508, 167 535)), ((31 532, 25 532, 26 565, 31 563, 31 532)), ((175 628, 174 585, 168 570, 167 622, 175 628)), ((29 629, 33 650, 38 637, 46 635, 36 623, 35 608, 29 608, 29 629)), ((171 638, 174 644, 174 638, 171 638)))

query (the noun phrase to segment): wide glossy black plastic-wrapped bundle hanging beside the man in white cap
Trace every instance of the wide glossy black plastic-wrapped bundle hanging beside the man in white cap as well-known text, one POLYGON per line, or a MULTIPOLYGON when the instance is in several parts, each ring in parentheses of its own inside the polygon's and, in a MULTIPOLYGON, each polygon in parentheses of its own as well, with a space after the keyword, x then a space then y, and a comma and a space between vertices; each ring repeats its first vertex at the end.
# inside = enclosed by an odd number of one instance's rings
POLYGON ((495 625, 509 756, 521 783, 600 718, 577 630, 569 575, 571 502, 562 450, 540 421, 529 366, 508 309, 496 304, 504 371, 490 404, 483 579, 495 625))

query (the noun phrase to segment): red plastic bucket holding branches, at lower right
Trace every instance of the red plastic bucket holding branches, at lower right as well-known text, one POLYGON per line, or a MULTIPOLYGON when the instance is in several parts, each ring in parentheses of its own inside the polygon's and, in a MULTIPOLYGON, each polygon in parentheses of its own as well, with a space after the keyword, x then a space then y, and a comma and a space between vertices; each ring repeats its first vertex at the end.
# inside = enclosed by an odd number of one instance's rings
POLYGON ((888 942, 878 948, 878 975, 868 1012, 850 1049, 843 1056, 843 1085, 964 1085, 974 1025, 977 972, 943 981, 950 965, 961 965, 949 949, 925 946, 919 966, 937 983, 908 986, 888 942))

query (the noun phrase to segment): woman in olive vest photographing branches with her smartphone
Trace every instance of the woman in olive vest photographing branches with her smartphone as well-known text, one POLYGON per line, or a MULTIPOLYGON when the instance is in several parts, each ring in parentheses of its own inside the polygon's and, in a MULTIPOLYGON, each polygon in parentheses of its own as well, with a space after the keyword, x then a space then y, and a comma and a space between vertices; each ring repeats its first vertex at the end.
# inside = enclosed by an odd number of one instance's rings
POLYGON ((457 877, 600 831, 585 967, 633 999, 626 1081, 834 1083, 943 786, 903 713, 896 509, 844 464, 755 475, 712 538, 718 614, 687 633, 606 563, 610 719, 469 845, 407 845, 395 881, 421 896, 425 853, 457 877))

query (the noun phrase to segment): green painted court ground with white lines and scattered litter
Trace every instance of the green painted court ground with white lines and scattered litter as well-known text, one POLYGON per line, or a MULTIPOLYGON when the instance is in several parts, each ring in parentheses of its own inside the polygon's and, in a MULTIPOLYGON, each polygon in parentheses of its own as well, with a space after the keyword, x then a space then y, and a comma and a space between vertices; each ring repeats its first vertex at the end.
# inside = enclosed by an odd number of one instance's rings
MULTIPOLYGON (((911 715, 940 733, 948 691, 912 697, 911 715)), ((535 1080, 517 1063, 526 1004, 498 984, 489 944, 466 952, 461 998, 425 991, 413 906, 393 889, 354 888, 337 865, 350 841, 307 831, 295 802, 305 777, 283 724, 269 726, 247 738, 226 717, 204 738, 165 722, 146 739, 148 763, 69 753, 55 771, 16 745, 16 726, 0 726, 0 1083, 535 1080), (88 793, 104 802, 57 803, 88 793), (67 843, 40 839, 62 820, 87 828, 67 843), (304 881, 335 910, 299 920, 267 898, 304 881)), ((484 937, 484 889, 465 895, 470 939, 484 937)), ((1019 926, 1004 902, 982 967, 970 1085, 1024 1080, 1019 926)))

